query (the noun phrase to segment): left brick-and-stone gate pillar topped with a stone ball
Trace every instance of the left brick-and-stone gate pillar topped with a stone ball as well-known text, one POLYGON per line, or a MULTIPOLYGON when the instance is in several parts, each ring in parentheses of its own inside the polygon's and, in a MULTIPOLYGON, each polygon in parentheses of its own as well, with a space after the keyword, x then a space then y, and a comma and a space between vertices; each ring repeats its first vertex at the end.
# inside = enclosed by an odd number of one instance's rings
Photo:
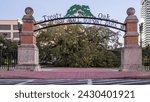
POLYGON ((36 36, 34 33, 33 9, 27 7, 26 15, 23 16, 22 32, 20 33, 20 45, 18 46, 18 65, 17 70, 38 71, 39 49, 36 46, 36 36))

